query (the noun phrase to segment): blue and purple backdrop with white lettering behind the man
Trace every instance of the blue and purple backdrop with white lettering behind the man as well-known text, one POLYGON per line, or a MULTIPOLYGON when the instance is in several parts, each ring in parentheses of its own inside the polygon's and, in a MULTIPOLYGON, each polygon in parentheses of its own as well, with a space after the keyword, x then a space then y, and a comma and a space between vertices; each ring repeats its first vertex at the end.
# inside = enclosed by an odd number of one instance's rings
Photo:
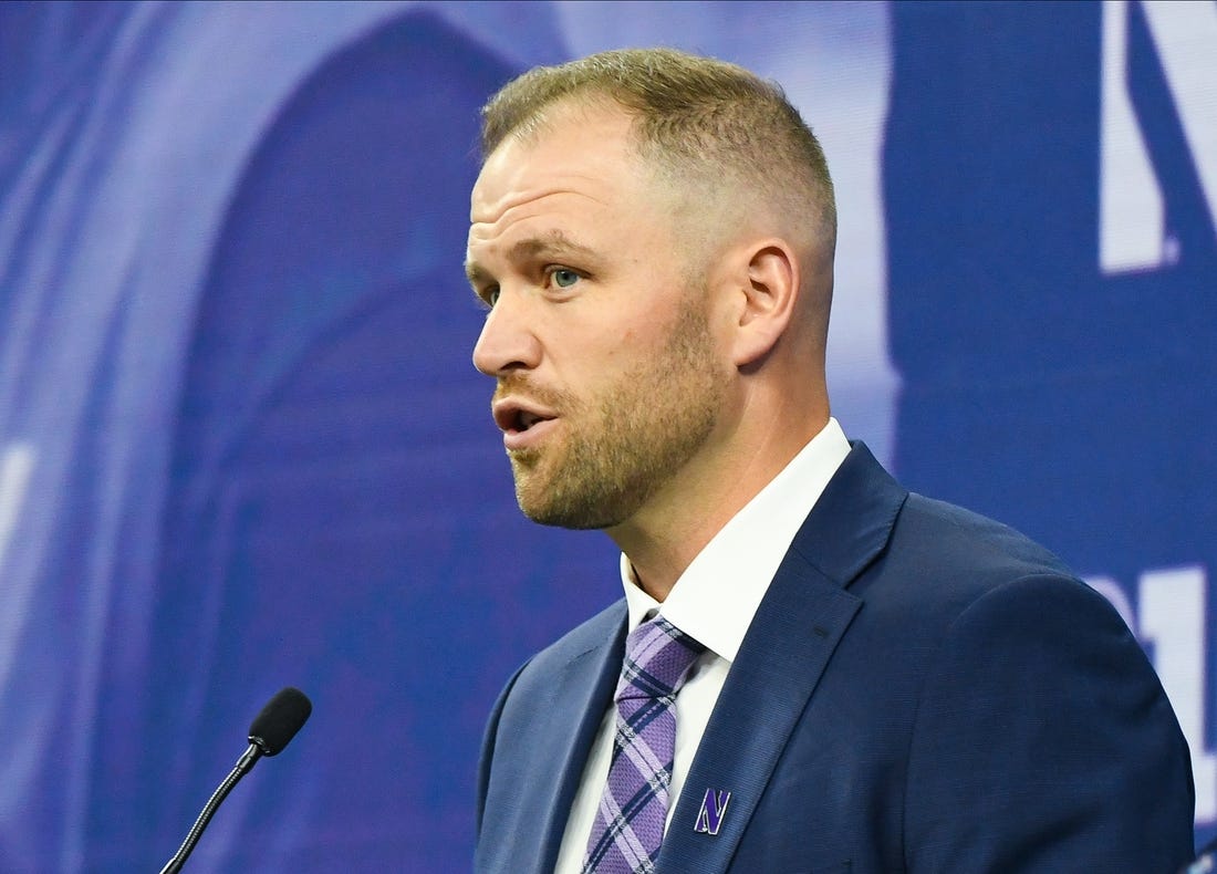
POLYGON ((1183 7, 0 4, 0 870, 159 865, 286 684, 313 718, 191 865, 467 868, 490 701, 619 592, 606 538, 520 516, 469 362, 476 110, 622 45, 786 86, 847 433, 1092 578, 1217 773, 1217 4, 1183 7), (1129 155, 1159 212, 1111 198, 1129 155))

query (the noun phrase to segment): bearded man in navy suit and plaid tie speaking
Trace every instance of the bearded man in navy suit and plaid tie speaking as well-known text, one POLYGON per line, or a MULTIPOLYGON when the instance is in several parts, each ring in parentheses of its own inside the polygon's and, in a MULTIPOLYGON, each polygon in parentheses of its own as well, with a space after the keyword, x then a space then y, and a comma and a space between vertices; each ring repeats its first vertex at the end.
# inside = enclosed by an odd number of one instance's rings
POLYGON ((775 86, 667 50, 484 110, 473 360, 623 601, 511 679, 478 872, 1170 872, 1188 751, 1104 599, 830 418, 835 208, 775 86), (628 638, 627 638, 628 634, 628 638))

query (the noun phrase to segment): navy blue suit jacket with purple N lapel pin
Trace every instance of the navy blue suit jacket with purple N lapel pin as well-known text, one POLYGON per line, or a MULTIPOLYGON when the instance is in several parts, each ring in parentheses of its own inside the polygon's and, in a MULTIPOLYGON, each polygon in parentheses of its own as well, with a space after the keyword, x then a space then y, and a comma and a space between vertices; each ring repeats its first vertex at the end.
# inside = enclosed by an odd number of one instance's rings
MULTIPOLYGON (((619 601, 499 699, 479 874, 554 869, 624 623, 619 601)), ((857 444, 748 628, 658 872, 1168 874, 1193 809, 1178 723, 1107 601, 857 444), (731 792, 717 835, 694 830, 707 789, 731 792)))

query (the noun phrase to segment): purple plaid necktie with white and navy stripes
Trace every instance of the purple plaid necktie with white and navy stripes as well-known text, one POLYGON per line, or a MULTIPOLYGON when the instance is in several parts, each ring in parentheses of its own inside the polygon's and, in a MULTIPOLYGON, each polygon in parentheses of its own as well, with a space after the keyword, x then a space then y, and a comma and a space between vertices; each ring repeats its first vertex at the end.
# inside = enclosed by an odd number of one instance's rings
POLYGON ((626 639, 612 764, 583 874, 655 870, 668 814, 675 694, 705 649, 662 616, 644 622, 626 639))

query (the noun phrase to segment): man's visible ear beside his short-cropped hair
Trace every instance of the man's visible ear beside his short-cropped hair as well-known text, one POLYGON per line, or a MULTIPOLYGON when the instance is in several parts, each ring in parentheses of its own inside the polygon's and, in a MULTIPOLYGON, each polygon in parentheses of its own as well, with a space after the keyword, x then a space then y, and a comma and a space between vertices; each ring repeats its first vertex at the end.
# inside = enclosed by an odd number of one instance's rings
POLYGON ((781 239, 753 242, 738 264, 733 358, 742 368, 769 354, 786 332, 801 278, 793 247, 781 239))

